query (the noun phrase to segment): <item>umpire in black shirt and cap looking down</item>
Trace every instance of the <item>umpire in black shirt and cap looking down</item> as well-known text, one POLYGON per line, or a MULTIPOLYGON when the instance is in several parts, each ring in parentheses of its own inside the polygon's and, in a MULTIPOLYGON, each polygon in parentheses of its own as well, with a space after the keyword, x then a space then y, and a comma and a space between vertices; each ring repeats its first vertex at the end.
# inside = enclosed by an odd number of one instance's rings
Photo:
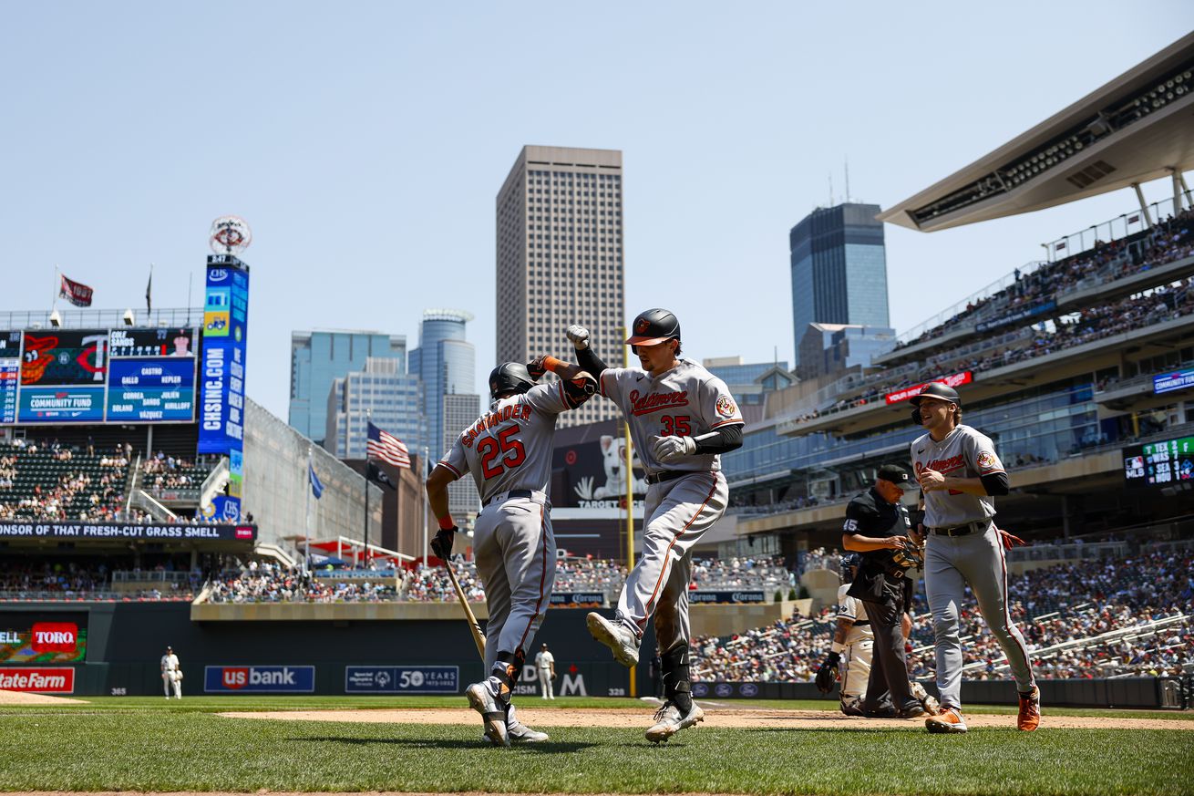
POLYGON ((897 465, 879 469, 875 485, 845 507, 842 546, 862 555, 862 564, 848 594, 867 604, 875 635, 870 680, 862 700, 863 712, 878 712, 885 693, 899 718, 924 716, 924 705, 909 688, 904 657, 904 611, 912 599, 912 583, 904 556, 911 544, 907 509, 900 504, 905 489, 913 486, 907 471, 897 465))

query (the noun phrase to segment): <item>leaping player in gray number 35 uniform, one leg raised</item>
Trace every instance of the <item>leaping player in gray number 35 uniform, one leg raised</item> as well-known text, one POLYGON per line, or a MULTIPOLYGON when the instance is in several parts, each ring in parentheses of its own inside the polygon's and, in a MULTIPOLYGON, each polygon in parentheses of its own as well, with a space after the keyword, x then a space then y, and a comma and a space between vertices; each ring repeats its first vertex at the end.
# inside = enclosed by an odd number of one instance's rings
POLYGON ((589 347, 589 331, 568 326, 577 361, 616 403, 647 471, 642 556, 617 599, 617 613, 587 617, 593 638, 624 666, 639 661, 639 642, 652 614, 660 649, 664 704, 647 740, 666 741, 703 721, 689 675, 688 584, 693 546, 726 510, 728 488, 720 454, 741 446, 743 416, 721 379, 679 359, 679 322, 666 310, 634 319, 633 347, 641 368, 610 368, 589 347))

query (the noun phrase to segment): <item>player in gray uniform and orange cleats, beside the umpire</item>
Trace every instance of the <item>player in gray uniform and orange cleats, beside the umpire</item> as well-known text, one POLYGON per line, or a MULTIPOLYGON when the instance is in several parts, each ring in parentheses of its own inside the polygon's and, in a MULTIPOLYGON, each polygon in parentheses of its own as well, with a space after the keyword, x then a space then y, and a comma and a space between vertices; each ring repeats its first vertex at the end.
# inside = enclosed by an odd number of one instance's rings
POLYGON ((930 384, 912 405, 913 422, 928 431, 912 442, 911 453, 924 508, 924 586, 936 635, 942 709, 925 720, 925 727, 930 733, 966 731, 959 612, 970 586, 1016 680, 1016 725, 1032 731, 1040 724, 1040 688, 1024 637, 1008 611, 1009 537, 995 525, 995 496, 1008 494, 1008 473, 991 440, 961 424, 961 399, 953 387, 930 384))

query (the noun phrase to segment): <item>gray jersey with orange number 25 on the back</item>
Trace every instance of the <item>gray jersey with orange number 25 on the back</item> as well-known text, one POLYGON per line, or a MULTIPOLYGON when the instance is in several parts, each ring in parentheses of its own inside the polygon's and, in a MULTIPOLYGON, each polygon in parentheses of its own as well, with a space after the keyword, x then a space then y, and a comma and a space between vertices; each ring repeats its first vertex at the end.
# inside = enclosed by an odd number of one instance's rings
POLYGON ((481 502, 511 489, 546 492, 552 480, 552 435, 556 417, 572 409, 564 384, 538 384, 493 402, 461 431, 439 464, 457 478, 473 473, 481 502))

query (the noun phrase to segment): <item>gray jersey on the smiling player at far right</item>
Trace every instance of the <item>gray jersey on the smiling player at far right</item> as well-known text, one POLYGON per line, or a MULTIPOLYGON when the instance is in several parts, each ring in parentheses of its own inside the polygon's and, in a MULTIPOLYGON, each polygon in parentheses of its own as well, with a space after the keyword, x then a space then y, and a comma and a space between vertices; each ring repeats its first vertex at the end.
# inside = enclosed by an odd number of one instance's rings
MULTIPOLYGON (((919 476, 924 470, 936 470, 942 476, 979 478, 1004 472, 990 437, 970 425, 959 425, 941 442, 928 434, 912 442, 912 469, 919 476)), ((924 526, 946 528, 995 516, 995 498, 989 495, 967 495, 958 490, 924 494, 924 526)))

